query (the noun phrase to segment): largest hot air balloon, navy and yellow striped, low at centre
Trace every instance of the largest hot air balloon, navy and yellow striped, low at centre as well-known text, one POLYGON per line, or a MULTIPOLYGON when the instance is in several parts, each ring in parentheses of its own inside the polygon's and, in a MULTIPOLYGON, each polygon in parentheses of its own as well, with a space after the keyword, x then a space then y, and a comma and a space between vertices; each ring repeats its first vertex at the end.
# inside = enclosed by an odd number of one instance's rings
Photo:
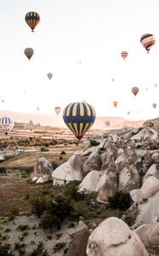
POLYGON ((63 119, 65 125, 74 133, 78 140, 94 125, 95 110, 88 103, 73 102, 65 107, 63 119))

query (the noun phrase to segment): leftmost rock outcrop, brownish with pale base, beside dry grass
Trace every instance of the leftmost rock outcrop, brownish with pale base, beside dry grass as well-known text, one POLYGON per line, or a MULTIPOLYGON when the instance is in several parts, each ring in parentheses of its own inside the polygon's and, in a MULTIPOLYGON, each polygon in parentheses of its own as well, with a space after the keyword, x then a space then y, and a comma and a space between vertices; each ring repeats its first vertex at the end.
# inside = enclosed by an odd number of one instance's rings
POLYGON ((48 180, 52 179, 53 171, 54 168, 49 161, 44 157, 41 157, 34 167, 34 171, 31 173, 31 179, 36 183, 47 182, 48 180))

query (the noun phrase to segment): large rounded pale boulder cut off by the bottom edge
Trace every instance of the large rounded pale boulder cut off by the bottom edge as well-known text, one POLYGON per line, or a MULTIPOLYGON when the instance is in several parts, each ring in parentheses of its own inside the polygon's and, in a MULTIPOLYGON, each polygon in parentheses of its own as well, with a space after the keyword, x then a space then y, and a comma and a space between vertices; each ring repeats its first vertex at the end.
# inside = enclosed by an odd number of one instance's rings
POLYGON ((122 219, 107 218, 88 238, 88 256, 148 256, 139 236, 122 219))

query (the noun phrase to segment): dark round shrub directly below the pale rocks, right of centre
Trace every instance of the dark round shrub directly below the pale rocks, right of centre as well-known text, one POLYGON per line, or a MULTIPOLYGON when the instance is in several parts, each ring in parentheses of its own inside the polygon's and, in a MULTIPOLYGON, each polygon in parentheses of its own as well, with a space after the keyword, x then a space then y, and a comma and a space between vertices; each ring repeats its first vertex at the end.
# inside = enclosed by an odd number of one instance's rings
POLYGON ((118 191, 113 196, 108 197, 111 209, 127 210, 131 205, 131 197, 128 193, 118 191))

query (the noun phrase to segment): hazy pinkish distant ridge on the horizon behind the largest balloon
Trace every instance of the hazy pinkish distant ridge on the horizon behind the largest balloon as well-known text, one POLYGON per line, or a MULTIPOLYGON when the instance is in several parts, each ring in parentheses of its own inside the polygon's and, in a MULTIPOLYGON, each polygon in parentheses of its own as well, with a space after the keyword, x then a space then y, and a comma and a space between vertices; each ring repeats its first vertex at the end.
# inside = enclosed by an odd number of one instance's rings
MULTIPOLYGON (((11 111, 0 111, 0 116, 9 116, 14 119, 14 122, 40 124, 43 126, 54 126, 65 128, 62 115, 49 115, 43 113, 17 113, 11 111)), ((145 120, 129 121, 122 117, 96 117, 93 128, 94 129, 115 129, 128 127, 139 127, 143 125, 145 120), (110 120, 110 125, 106 127, 105 120, 110 120)))

